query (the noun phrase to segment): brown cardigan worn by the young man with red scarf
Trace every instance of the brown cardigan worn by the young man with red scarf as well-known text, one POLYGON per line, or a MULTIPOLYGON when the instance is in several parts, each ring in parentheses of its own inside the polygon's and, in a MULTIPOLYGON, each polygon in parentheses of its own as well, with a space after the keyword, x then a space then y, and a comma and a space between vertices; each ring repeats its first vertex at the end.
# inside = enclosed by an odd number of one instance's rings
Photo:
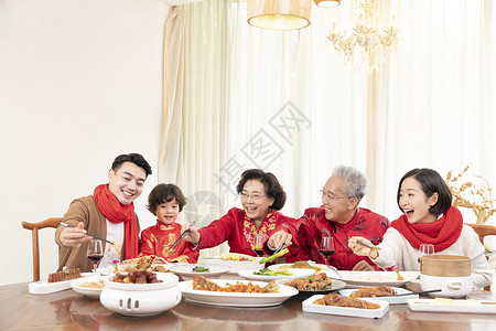
MULTIPOLYGON (((79 222, 85 224, 85 229, 100 238, 107 238, 107 218, 101 214, 100 210, 96 205, 95 197, 93 195, 75 199, 64 215, 64 223, 72 226, 77 226, 79 222)), ((138 233, 140 229, 140 223, 138 215, 136 216, 138 233)), ((93 269, 93 264, 86 257, 86 249, 88 244, 85 243, 79 247, 69 247, 62 245, 61 233, 64 226, 58 226, 55 232, 55 242, 60 246, 58 250, 58 270, 65 266, 67 268, 79 268, 82 273, 88 273, 93 269)), ((122 255, 125 256, 125 246, 122 243, 122 255)), ((104 242, 104 245, 107 245, 104 242)))

